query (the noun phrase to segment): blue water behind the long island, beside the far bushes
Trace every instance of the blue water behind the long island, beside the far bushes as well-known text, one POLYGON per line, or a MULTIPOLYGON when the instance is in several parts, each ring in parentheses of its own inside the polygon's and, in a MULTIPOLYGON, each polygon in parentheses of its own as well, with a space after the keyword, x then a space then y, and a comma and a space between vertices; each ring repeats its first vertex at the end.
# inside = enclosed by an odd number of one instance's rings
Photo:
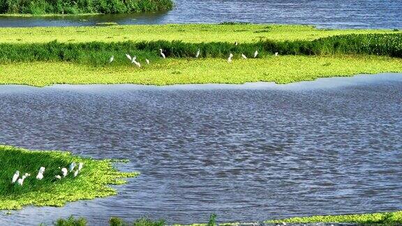
POLYGON ((402 28, 402 1, 392 0, 176 0, 167 13, 86 17, 0 17, 0 27, 253 22, 315 24, 331 28, 402 28))

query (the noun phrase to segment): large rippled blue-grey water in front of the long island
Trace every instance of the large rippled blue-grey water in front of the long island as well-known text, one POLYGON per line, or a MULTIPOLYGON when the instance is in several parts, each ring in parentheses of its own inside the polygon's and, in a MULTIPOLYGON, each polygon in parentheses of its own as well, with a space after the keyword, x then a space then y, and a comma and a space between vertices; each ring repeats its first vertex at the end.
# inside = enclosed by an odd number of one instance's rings
POLYGON ((1 225, 84 216, 261 221, 402 209, 402 74, 288 85, 0 86, 0 143, 127 158, 119 195, 27 207, 1 225))

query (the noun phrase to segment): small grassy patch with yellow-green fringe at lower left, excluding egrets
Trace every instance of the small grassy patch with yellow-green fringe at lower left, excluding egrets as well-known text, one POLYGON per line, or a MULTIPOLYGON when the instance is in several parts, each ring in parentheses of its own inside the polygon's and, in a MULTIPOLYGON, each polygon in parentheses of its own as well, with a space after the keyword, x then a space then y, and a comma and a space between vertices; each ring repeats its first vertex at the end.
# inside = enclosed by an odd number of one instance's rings
POLYGON ((94 160, 72 156, 61 151, 29 151, 13 146, 0 146, 0 209, 21 209, 22 206, 63 206, 66 202, 80 199, 94 199, 115 195, 109 185, 126 183, 126 177, 138 173, 118 172, 112 160, 94 160), (59 167, 70 163, 84 163, 82 171, 74 177, 69 173, 65 178, 59 167), (44 178, 36 179, 38 169, 45 167, 44 178), (29 173, 22 186, 11 183, 15 171, 29 173))

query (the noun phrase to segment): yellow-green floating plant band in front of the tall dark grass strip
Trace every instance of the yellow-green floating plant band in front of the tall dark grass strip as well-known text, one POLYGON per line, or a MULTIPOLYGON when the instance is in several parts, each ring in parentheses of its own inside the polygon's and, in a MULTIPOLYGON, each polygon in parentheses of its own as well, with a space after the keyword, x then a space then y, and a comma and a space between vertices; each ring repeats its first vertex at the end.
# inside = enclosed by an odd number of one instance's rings
POLYGON ((92 67, 65 62, 9 63, 0 84, 203 84, 289 82, 361 73, 402 72, 402 59, 376 56, 281 56, 265 59, 166 59, 150 66, 92 67))

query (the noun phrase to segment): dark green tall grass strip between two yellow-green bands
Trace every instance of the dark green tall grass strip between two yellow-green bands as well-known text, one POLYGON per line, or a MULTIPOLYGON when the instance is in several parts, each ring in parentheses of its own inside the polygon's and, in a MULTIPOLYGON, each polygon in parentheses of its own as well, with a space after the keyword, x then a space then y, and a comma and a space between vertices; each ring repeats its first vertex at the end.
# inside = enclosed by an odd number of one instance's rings
POLYGON ((125 54, 157 60, 159 49, 170 58, 193 58, 198 49, 203 58, 227 58, 243 53, 258 57, 279 52, 291 55, 373 54, 388 57, 402 57, 402 34, 350 34, 332 36, 317 40, 260 41, 257 43, 184 43, 181 41, 142 41, 121 43, 50 43, 0 44, 0 63, 22 61, 69 61, 92 66, 104 66, 114 55, 114 64, 129 64, 125 54))

